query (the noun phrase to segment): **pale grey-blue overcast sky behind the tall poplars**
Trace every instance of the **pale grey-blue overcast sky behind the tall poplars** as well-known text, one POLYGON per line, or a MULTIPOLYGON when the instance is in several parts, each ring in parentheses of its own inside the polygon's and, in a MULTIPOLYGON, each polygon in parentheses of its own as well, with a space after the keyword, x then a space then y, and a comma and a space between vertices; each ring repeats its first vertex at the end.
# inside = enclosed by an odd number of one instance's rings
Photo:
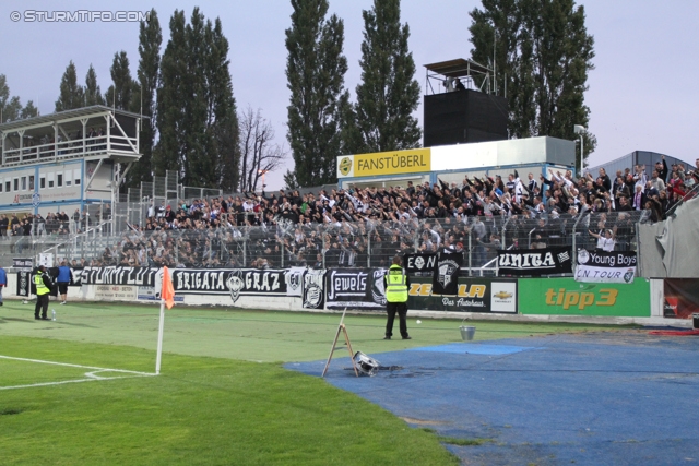
MULTIPOLYGON (((699 156, 689 138, 699 123, 698 59, 699 1, 581 1, 585 8, 588 33, 594 36, 595 70, 589 77, 585 104, 591 109, 589 130, 597 136, 591 165, 603 164, 632 151, 653 151, 692 162, 699 156)), ((74 22, 47 23, 12 21, 12 12, 27 10, 95 10, 108 2, 15 1, 0 4, 0 74, 5 74, 11 95, 22 104, 34 100, 42 115, 54 111, 59 83, 73 60, 79 81, 92 63, 103 93, 111 79, 114 53, 126 50, 135 77, 138 68, 138 23, 74 22)), ((114 2, 104 11, 158 12, 163 27, 163 49, 169 38, 171 2, 114 2)), ((286 48, 284 31, 289 27, 292 8, 284 0, 177 2, 189 19, 194 5, 208 19, 221 17, 230 44, 230 75, 238 108, 262 109, 276 129, 276 142, 286 142, 286 48)), ((411 29, 410 47, 417 65, 416 79, 425 89, 424 64, 469 58, 469 12, 479 7, 474 0, 404 0, 402 22, 411 29)), ((350 71, 345 85, 354 99, 359 81, 362 11, 369 0, 331 0, 330 12, 345 22, 345 56, 350 71)), ((422 121, 422 104, 416 112, 422 121)), ((291 154, 287 166, 293 166, 291 154)), ((286 168, 286 167, 285 167, 286 168)), ((283 184, 281 169, 268 176, 268 184, 283 184)))

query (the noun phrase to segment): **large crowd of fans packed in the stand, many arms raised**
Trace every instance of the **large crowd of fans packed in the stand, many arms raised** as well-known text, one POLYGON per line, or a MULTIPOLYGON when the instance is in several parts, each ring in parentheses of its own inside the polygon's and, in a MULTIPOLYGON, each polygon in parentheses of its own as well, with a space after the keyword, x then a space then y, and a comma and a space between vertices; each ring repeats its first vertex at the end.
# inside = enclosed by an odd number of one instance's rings
MULTIPOLYGON (((699 159, 697 160, 699 165, 699 159)), ((699 168, 699 167, 698 167, 699 168)), ((633 248, 639 220, 660 222, 697 182, 697 171, 657 160, 576 179, 513 170, 405 187, 247 193, 152 205, 98 265, 193 267, 387 266, 395 253, 463 252, 483 266, 498 249, 633 248), (577 227, 576 227, 577 226, 577 227), (573 228, 576 228, 573 230, 573 228)))

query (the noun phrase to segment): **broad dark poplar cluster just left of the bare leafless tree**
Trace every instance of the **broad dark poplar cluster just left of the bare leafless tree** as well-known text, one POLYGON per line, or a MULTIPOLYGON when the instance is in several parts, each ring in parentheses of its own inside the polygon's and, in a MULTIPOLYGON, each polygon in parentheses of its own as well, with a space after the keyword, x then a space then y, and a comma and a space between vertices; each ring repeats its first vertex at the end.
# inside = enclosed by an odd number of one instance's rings
POLYGON ((238 122, 227 55, 218 19, 212 24, 196 8, 186 24, 185 12, 175 11, 161 60, 156 176, 177 170, 187 186, 237 189, 238 122))

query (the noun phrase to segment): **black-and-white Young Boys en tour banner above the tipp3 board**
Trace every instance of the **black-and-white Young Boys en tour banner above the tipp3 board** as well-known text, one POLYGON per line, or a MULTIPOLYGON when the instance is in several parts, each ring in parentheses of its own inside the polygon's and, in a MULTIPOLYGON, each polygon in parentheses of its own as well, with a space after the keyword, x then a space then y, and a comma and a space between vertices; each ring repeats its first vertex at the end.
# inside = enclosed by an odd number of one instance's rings
POLYGON ((580 249, 576 282, 633 283, 636 260, 636 251, 606 252, 580 249))

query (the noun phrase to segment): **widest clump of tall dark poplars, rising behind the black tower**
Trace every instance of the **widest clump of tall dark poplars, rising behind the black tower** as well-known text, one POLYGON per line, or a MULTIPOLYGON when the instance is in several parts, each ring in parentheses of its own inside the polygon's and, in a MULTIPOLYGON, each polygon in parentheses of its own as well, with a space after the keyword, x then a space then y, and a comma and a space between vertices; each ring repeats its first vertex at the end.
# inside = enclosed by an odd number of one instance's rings
MULTIPOLYGON (((511 138, 549 135, 576 140, 588 127, 588 72, 594 39, 585 13, 573 0, 483 0, 471 12, 472 58, 496 68, 496 92, 510 107, 511 138)), ((596 138, 584 134, 585 155, 596 138)))

